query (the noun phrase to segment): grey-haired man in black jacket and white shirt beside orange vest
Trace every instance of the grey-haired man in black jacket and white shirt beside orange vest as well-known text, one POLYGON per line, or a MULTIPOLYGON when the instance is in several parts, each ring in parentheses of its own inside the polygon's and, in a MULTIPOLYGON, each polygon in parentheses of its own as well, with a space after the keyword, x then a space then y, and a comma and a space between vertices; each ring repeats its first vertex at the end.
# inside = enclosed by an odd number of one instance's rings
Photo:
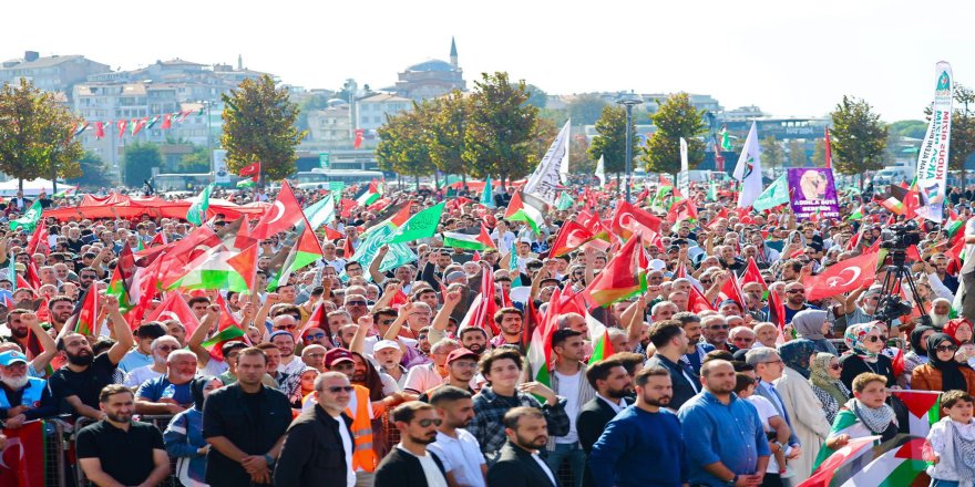
POLYGON ((356 485, 356 473, 346 462, 355 447, 352 418, 343 413, 352 396, 349 377, 326 372, 315 380, 317 405, 288 427, 281 455, 275 467, 275 486, 321 484, 356 485))

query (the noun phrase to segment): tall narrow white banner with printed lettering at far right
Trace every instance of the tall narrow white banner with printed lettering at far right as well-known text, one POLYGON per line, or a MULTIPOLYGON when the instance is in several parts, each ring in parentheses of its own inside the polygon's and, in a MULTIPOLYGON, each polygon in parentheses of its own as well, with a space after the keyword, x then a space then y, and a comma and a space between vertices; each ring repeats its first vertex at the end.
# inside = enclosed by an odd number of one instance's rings
POLYGON ((917 215, 941 222, 942 209, 947 198, 948 145, 952 141, 952 95, 954 80, 952 65, 945 61, 935 68, 937 84, 934 89, 934 106, 931 122, 917 153, 917 189, 921 207, 917 215))

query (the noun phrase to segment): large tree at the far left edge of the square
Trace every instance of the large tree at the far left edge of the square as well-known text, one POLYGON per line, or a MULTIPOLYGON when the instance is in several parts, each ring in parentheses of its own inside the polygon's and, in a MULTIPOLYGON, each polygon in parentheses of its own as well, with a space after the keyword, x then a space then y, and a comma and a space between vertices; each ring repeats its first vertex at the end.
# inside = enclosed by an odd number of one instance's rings
POLYGON ((0 89, 0 172, 19 179, 78 177, 84 154, 74 129, 80 118, 54 94, 24 77, 0 89))

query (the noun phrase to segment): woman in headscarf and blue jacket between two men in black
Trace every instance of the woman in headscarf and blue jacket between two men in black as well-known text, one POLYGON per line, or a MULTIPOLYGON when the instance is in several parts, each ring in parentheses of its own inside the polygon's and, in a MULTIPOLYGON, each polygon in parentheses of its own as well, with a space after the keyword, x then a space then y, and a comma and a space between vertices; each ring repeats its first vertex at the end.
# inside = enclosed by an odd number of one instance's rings
POLYGON ((183 485, 206 487, 206 454, 209 444, 203 437, 203 402, 209 393, 224 386, 219 379, 201 376, 189 383, 193 407, 176 414, 170 421, 163 439, 166 453, 176 458, 176 477, 183 485))

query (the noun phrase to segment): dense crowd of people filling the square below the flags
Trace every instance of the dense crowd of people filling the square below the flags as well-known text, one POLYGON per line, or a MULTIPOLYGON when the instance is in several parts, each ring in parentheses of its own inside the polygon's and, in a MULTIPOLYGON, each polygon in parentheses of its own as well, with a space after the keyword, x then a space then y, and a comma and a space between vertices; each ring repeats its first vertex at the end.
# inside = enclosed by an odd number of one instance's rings
MULTIPOLYGON (((635 203, 659 217, 643 246, 645 286, 557 314, 548 310, 585 292, 622 242, 558 255, 553 244, 583 214, 610 219, 615 191, 567 187, 572 205, 547 208, 536 229, 507 215, 513 187, 484 204, 465 189, 387 190, 414 213, 448 203, 437 235, 407 242, 413 261, 381 271, 386 246, 371 262, 352 260, 383 209, 342 206, 329 224, 339 237, 315 229, 321 258, 284 282, 269 288, 269 268, 290 231, 260 242, 249 292, 161 291, 137 315, 105 290, 120 256, 197 227, 151 215, 52 218, 31 251, 31 231, 6 231, 0 421, 8 432, 37 419, 76 425, 78 467, 99 486, 171 476, 185 486, 796 486, 852 439, 907 433, 892 391, 913 388, 943 393, 927 474, 971 487, 975 293, 965 290, 975 259, 951 255, 953 231, 921 222, 920 260, 909 262, 917 293, 905 298, 926 314, 881 321, 883 269, 850 292, 807 294, 811 278, 905 216, 859 195, 843 198, 840 218, 729 211, 731 189, 692 188, 696 215, 676 219, 649 186, 635 203), (493 248, 443 246, 442 231, 476 236, 482 225, 493 248), (763 282, 729 299, 726 283, 752 267, 763 282), (485 273, 494 288, 480 296, 485 273), (94 327, 79 327, 92 292, 94 327), (192 317, 147 320, 171 293, 192 317), (479 300, 496 303, 491 325, 470 324, 479 300), (225 339, 228 318, 240 333, 225 339), (532 344, 538 320, 554 325, 532 344), (160 429, 145 416, 171 418, 160 429)), ((296 196, 305 207, 333 197, 296 196)), ((3 209, 13 220, 29 206, 19 196, 3 209)), ((967 221, 961 238, 975 245, 967 199, 946 211, 967 221)))

